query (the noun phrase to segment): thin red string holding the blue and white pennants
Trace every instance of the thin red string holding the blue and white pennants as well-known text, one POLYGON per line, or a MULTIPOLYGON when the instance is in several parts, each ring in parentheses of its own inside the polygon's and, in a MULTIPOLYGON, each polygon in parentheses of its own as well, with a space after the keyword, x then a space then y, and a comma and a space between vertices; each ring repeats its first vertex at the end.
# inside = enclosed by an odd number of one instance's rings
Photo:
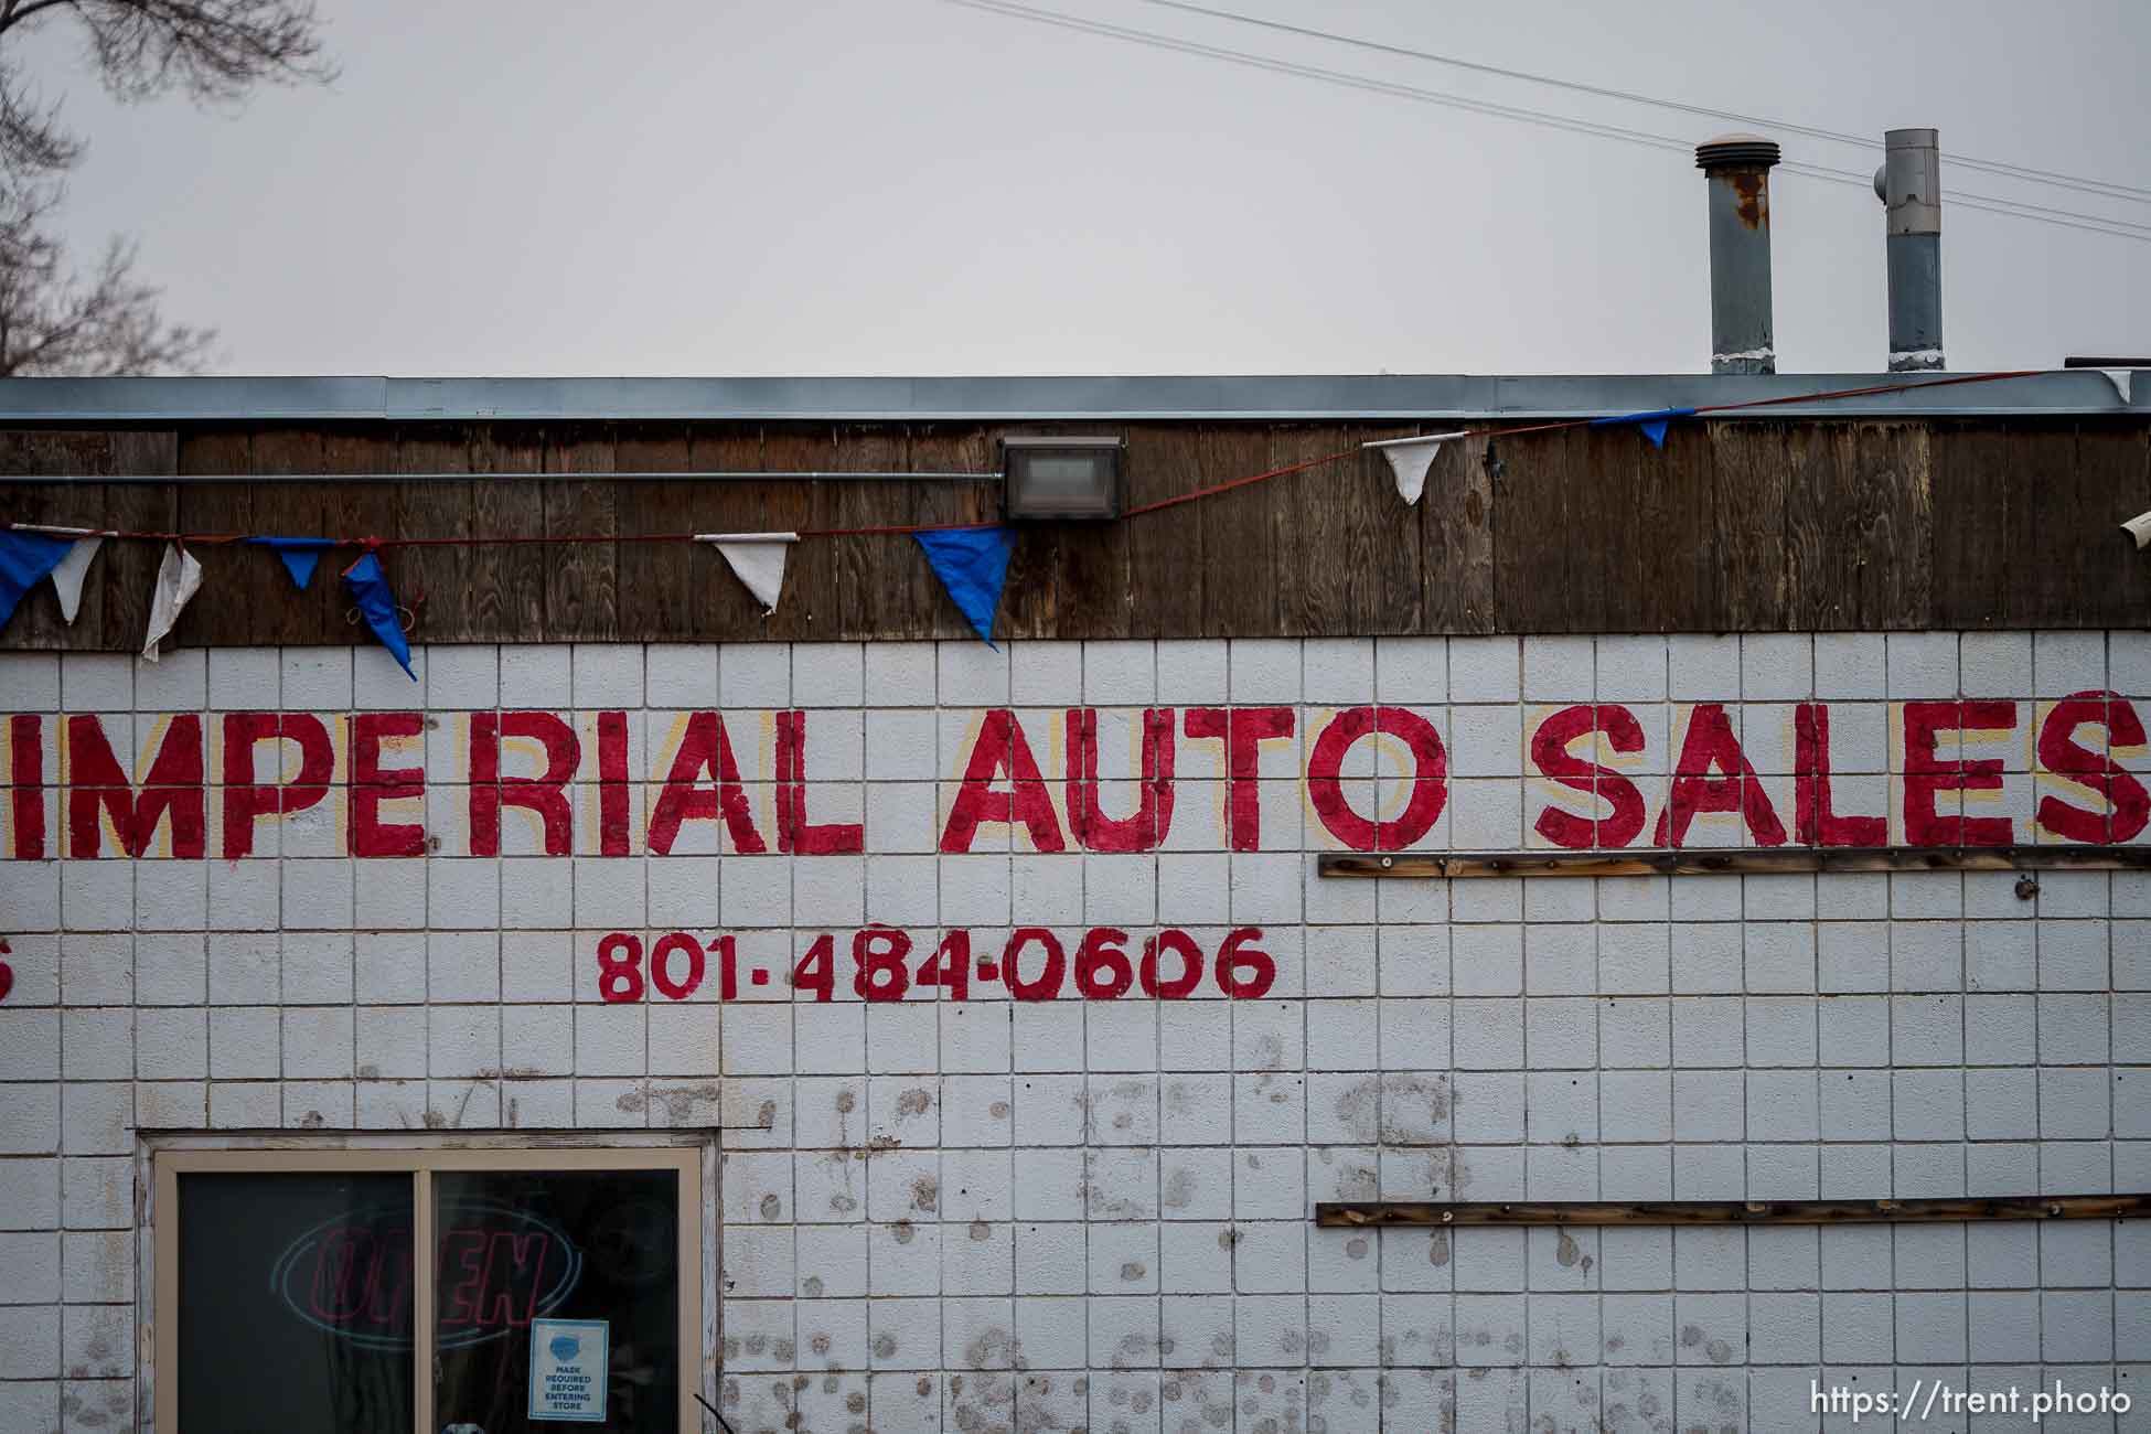
MULTIPOLYGON (((1555 419, 1555 421, 1523 424, 1523 426, 1512 426, 1512 428, 1484 424, 1480 428, 1454 430, 1454 432, 1443 434, 1443 436, 1448 436, 1448 439, 1519 439, 1519 436, 1525 436, 1525 434, 1564 432, 1564 430, 1572 430, 1572 428, 1605 428, 1605 426, 1613 426, 1613 424, 1639 424, 1643 419, 1661 421, 1665 417, 1689 417, 1689 415, 1701 417, 1701 415, 1710 415, 1710 413, 1740 413, 1740 411, 1749 411, 1749 408, 1772 408, 1772 406, 1785 406, 1785 404, 1813 404, 1813 402, 1831 402, 1831 400, 1839 400, 1839 398, 1874 398, 1874 396, 1882 396, 1882 393, 1908 393, 1908 391, 1914 391, 1914 389, 1945 389, 1945 387, 1953 387, 1953 385, 1962 385, 1962 383, 2000 383, 2000 381, 2009 381, 2009 378, 2037 378, 2037 376, 2041 376, 2046 372, 2050 372, 2050 370, 2020 368, 2020 370, 2003 370, 2003 372, 1990 372, 1990 374, 1951 374, 1947 378, 1921 378, 1921 381, 1908 381, 1908 383, 1876 383, 1876 385, 1856 387, 1856 389, 1831 389, 1831 391, 1824 391, 1824 393, 1783 393, 1783 396, 1777 396, 1777 398, 1744 398, 1744 400, 1727 402, 1727 404, 1695 404, 1693 408, 1656 408, 1656 411, 1626 413, 1626 415, 1602 415, 1602 417, 1585 417, 1585 419, 1555 419)), ((1886 415, 1876 415, 1876 417, 1886 417, 1886 415)), ((1172 494, 1172 497, 1166 497, 1166 499, 1155 499, 1151 503, 1138 503, 1134 507, 1125 507, 1125 510, 1121 510, 1121 516, 1123 518, 1140 518, 1144 514, 1164 512, 1168 507, 1179 507, 1183 503, 1196 503, 1196 501, 1202 501, 1202 499, 1213 499, 1217 494, 1233 492, 1237 488, 1248 488, 1248 486, 1254 486, 1254 484, 1263 484, 1263 482, 1269 482, 1273 477, 1286 477, 1291 473, 1306 473, 1310 469, 1325 469, 1329 464, 1338 464, 1338 462, 1344 462, 1349 458, 1357 458, 1362 451, 1364 451, 1364 447, 1355 445, 1355 447, 1338 451, 1338 454, 1323 454, 1321 458, 1306 458, 1301 462, 1284 464, 1280 469, 1269 469, 1265 473, 1248 473, 1248 475, 1241 475, 1241 477, 1230 477, 1230 479, 1226 479, 1222 484, 1209 484, 1207 488, 1196 488, 1192 492, 1179 492, 1179 494, 1172 494)), ((329 475, 320 475, 320 477, 327 479, 329 475)), ((488 477, 488 475, 484 475, 484 473, 471 473, 469 477, 482 479, 482 477, 488 477)), ((604 475, 602 473, 592 473, 587 477, 604 477, 604 475)), ((680 473, 678 477, 695 477, 695 475, 693 473, 680 473)), ((777 479, 777 477, 789 479, 789 477, 798 477, 798 475, 796 473, 770 473, 768 477, 772 477, 772 479, 777 479)), ((856 475, 847 473, 847 475, 841 475, 841 477, 856 477, 856 475)), ((942 475, 925 473, 925 475, 918 475, 918 477, 942 477, 942 475)), ((974 475, 966 475, 966 477, 974 477, 974 475)), ((245 475, 243 473, 241 475, 232 475, 232 482, 245 482, 245 475)), ((828 527, 828 529, 794 529, 794 531, 798 533, 798 537, 916 537, 918 533, 946 533, 946 531, 996 529, 996 527, 1002 527, 1002 522, 998 518, 979 520, 979 522, 884 522, 884 525, 869 525, 869 527, 828 527)), ((82 531, 82 533, 97 533, 97 535, 112 537, 112 540, 200 544, 200 546, 250 542, 252 537, 256 537, 254 533, 163 533, 163 531, 125 531, 125 529, 52 529, 47 525, 34 525, 34 522, 9 522, 6 529, 19 531, 19 533, 54 533, 54 531, 75 533, 75 531, 82 531)), ((454 535, 454 537, 327 537, 323 542, 331 544, 331 546, 338 546, 338 548, 376 550, 376 548, 564 546, 564 544, 607 544, 607 542, 615 542, 615 544, 622 544, 622 542, 626 542, 626 544, 650 544, 650 542, 697 542, 697 540, 699 540, 697 533, 473 533, 473 535, 454 535)))

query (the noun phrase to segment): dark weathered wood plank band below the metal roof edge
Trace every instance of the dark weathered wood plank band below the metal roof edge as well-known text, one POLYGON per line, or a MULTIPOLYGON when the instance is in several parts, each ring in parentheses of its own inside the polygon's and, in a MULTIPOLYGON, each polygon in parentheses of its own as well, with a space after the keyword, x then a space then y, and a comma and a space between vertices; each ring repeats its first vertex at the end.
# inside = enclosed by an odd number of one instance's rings
MULTIPOLYGON (((1407 426, 1071 428, 1127 434, 1131 503, 1353 456, 1123 522, 1026 527, 1000 611, 1007 636, 2151 623, 2151 557, 2117 531, 2151 510, 2142 424, 1734 419, 1678 424, 1663 449, 1620 428, 1476 436, 1441 449, 1418 510, 1398 503, 1379 454, 1357 451, 1407 426)), ((968 628, 903 535, 802 542, 777 615, 708 548, 635 537, 974 522, 994 516, 994 484, 611 475, 985 471, 996 434, 977 424, 4 430, 0 471, 90 482, 0 484, 0 520, 600 537, 389 550, 413 636, 432 643, 951 639, 968 628), (230 482, 97 482, 161 473, 230 482), (323 482, 269 477, 290 473, 323 482), (419 473, 469 477, 400 477, 419 473)), ((198 555, 209 589, 179 643, 361 641, 340 561, 297 593, 262 548, 198 555)), ((0 647, 136 647, 157 548, 108 544, 97 561, 73 628, 41 585, 0 647)))

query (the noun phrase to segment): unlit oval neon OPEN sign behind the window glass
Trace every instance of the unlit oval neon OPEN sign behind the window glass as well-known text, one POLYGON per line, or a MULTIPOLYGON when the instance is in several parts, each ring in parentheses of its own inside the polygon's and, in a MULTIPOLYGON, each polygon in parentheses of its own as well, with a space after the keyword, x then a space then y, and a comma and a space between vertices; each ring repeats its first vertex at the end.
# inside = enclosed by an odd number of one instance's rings
MULTIPOLYGON (((435 1348, 501 1339, 551 1314, 583 1277, 583 1251, 529 1210, 482 1200, 439 1213, 435 1348)), ((325 1219, 284 1247, 269 1271, 284 1305, 338 1339, 411 1348, 411 1215, 366 1206, 325 1219)))

